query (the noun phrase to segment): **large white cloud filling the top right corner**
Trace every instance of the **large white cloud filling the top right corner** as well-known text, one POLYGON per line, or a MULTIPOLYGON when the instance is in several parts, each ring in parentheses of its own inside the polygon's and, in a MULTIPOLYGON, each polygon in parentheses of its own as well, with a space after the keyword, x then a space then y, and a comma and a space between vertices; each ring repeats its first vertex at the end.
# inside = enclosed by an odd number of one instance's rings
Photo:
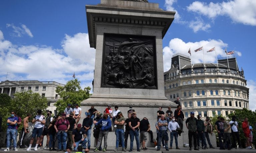
POLYGON ((187 7, 188 11, 214 19, 218 16, 228 16, 235 23, 256 26, 256 1, 233 0, 209 4, 195 1, 187 7))

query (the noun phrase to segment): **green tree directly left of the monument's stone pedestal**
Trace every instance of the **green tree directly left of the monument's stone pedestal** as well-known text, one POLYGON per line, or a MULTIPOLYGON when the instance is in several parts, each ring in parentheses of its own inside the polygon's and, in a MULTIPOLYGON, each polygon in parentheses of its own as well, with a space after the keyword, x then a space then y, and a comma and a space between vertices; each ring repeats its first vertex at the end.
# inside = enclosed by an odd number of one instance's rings
POLYGON ((74 108, 74 105, 77 103, 80 106, 80 102, 90 98, 91 88, 85 87, 81 89, 80 81, 73 79, 67 82, 64 87, 58 86, 56 92, 60 95, 62 99, 59 99, 54 105, 57 107, 58 114, 62 113, 67 104, 71 104, 71 107, 74 108))

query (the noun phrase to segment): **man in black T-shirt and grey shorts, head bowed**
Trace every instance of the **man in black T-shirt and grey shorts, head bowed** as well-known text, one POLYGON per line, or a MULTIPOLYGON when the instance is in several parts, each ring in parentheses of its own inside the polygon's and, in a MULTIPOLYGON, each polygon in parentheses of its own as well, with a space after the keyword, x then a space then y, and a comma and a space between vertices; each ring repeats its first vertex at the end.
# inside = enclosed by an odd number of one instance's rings
POLYGON ((146 148, 145 143, 147 141, 147 132, 150 130, 150 124, 148 122, 148 119, 146 117, 144 117, 141 121, 140 121, 140 141, 142 142, 142 147, 141 150, 148 150, 148 148, 146 148))

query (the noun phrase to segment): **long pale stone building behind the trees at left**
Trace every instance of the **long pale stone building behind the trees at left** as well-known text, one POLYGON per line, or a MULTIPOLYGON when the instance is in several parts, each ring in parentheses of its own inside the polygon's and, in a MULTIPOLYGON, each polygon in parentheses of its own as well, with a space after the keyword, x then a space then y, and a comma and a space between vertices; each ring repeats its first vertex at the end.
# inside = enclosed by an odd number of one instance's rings
POLYGON ((32 81, 1 81, 0 82, 0 93, 6 93, 12 98, 15 92, 20 92, 24 90, 32 90, 33 92, 39 93, 48 100, 48 107, 46 111, 52 111, 57 114, 56 107, 53 105, 60 96, 56 93, 57 86, 64 86, 64 84, 55 81, 44 81, 40 82, 38 80, 32 81))

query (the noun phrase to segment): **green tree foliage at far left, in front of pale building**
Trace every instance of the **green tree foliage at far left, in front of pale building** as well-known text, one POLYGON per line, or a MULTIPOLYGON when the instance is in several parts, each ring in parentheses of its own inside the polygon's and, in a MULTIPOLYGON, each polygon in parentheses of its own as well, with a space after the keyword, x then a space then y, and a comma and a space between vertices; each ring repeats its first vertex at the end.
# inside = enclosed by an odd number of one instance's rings
MULTIPOLYGON (((39 93, 33 93, 31 90, 16 92, 14 93, 14 98, 11 100, 11 97, 7 98, 6 95, 1 95, 0 97, 5 97, 2 98, 5 101, 1 102, 1 106, 3 107, 0 108, 0 112, 3 116, 3 130, 7 128, 7 125, 4 123, 7 118, 11 116, 11 111, 16 111, 17 115, 23 119, 27 116, 27 113, 35 116, 38 109, 42 109, 42 113, 45 114, 45 110, 47 108, 47 99, 39 93)), ((2 99, 0 99, 0 101, 2 99)), ((20 128, 22 128, 22 125, 20 128)))

